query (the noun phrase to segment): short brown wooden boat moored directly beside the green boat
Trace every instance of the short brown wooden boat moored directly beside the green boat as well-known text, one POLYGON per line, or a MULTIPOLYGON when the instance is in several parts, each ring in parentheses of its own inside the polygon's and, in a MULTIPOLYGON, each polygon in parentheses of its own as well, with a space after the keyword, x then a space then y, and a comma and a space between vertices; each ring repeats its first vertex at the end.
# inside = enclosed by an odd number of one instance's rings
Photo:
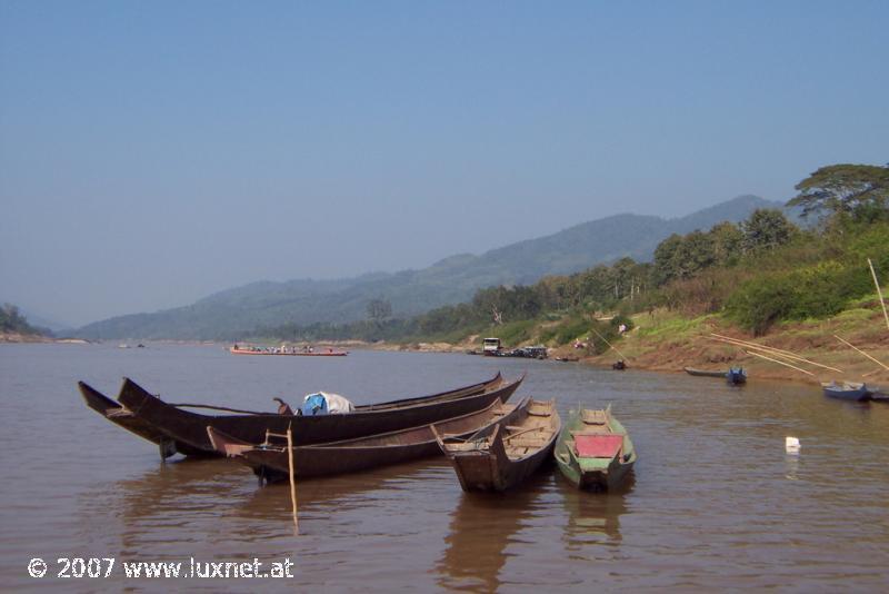
POLYGON ((556 402, 531 400, 509 424, 486 427, 467 438, 438 436, 463 491, 507 491, 549 459, 561 428, 556 402))

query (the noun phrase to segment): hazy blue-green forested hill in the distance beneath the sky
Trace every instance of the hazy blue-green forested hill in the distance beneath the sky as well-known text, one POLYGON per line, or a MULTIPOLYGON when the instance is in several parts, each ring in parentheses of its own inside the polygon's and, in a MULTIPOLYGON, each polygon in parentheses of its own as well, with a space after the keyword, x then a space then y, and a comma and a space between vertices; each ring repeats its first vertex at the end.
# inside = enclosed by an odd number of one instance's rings
POLYGON ((233 339, 260 325, 362 319, 372 299, 389 301, 397 317, 412 316, 471 299, 482 287, 530 284, 546 275, 570 274, 625 256, 648 260, 671 234, 709 229, 723 220, 737 222, 757 208, 781 205, 740 196, 676 219, 617 215, 480 256, 451 256, 421 270, 338 280, 253 283, 186 307, 97 321, 76 334, 84 338, 233 339))

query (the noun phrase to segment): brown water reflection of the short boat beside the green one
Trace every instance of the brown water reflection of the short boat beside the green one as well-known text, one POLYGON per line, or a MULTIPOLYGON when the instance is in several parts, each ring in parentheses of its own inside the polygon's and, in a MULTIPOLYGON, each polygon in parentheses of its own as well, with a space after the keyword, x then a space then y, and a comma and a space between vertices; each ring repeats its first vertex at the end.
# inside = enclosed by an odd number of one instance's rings
POLYGON ((448 590, 493 592, 516 533, 540 505, 549 473, 538 473, 508 493, 462 493, 451 514, 439 584, 448 590))

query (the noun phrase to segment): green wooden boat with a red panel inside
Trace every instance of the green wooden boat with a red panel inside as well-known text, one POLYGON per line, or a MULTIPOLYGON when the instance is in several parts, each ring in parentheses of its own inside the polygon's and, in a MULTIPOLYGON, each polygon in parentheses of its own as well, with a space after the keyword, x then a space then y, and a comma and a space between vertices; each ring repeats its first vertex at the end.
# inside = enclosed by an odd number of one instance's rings
POLYGON ((609 406, 571 412, 556 442, 555 457, 576 487, 613 491, 636 464, 636 449, 609 406))

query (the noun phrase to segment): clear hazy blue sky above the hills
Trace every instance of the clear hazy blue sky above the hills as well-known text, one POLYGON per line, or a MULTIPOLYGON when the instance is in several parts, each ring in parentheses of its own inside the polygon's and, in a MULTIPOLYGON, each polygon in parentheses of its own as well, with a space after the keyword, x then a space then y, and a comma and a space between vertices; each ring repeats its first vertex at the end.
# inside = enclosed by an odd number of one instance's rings
POLYGON ((889 2, 0 1, 0 300, 82 325, 889 161, 889 2))

